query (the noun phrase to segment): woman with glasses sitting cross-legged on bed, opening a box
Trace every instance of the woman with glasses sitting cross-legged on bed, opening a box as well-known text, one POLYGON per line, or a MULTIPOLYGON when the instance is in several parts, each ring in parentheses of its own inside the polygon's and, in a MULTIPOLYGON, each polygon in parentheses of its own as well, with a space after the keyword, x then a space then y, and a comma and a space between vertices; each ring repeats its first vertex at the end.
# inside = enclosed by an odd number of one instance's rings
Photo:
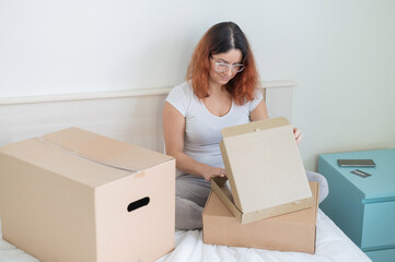
MULTIPOLYGON (((221 130, 268 118, 248 41, 232 22, 216 24, 204 35, 186 79, 172 90, 163 108, 166 154, 175 157, 177 168, 177 229, 201 228, 210 180, 226 176, 219 148, 221 130)), ((299 129, 293 132, 299 144, 302 134, 299 129)), ((327 195, 325 178, 306 175, 320 182, 322 201, 327 195)))

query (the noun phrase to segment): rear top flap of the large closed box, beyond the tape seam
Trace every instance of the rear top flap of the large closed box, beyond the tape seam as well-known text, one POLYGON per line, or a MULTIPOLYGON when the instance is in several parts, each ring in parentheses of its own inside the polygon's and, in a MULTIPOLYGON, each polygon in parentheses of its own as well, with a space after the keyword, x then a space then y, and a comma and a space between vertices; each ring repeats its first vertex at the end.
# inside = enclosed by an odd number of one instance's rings
POLYGON ((171 156, 78 128, 49 133, 42 139, 83 158, 129 171, 140 171, 172 159, 171 156))

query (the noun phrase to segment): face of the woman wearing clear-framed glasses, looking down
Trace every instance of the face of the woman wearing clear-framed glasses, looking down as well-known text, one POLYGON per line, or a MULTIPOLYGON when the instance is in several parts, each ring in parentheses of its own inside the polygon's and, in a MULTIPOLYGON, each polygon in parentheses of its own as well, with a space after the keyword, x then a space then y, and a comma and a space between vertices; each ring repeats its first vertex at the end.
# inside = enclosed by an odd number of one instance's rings
MULTIPOLYGON (((228 52, 221 52, 211 56, 209 81, 213 84, 219 84, 222 86, 226 84, 231 79, 233 79, 237 72, 235 72, 235 69, 232 70, 232 67, 230 67, 223 72, 219 72, 216 70, 216 62, 225 63, 229 66, 240 64, 242 63, 242 51, 239 49, 231 49, 228 52)), ((223 68, 223 66, 217 67, 217 69, 218 68, 223 68)))

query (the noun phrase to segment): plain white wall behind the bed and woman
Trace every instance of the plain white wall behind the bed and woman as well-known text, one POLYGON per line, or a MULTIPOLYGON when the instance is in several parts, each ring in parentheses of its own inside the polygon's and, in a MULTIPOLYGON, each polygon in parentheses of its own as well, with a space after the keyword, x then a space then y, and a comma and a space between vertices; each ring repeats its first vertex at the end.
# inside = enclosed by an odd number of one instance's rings
POLYGON ((173 86, 204 32, 234 21, 263 80, 298 81, 293 122, 314 169, 321 153, 395 147, 394 10, 393 0, 0 0, 0 98, 173 86))

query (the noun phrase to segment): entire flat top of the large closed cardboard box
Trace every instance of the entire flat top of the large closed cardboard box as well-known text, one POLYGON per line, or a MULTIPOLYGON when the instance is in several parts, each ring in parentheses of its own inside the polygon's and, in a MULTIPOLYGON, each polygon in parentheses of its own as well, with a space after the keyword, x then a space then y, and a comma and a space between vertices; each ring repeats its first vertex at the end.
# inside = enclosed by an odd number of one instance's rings
POLYGON ((0 153, 91 187, 98 187, 173 159, 79 128, 4 145, 0 147, 0 153))

